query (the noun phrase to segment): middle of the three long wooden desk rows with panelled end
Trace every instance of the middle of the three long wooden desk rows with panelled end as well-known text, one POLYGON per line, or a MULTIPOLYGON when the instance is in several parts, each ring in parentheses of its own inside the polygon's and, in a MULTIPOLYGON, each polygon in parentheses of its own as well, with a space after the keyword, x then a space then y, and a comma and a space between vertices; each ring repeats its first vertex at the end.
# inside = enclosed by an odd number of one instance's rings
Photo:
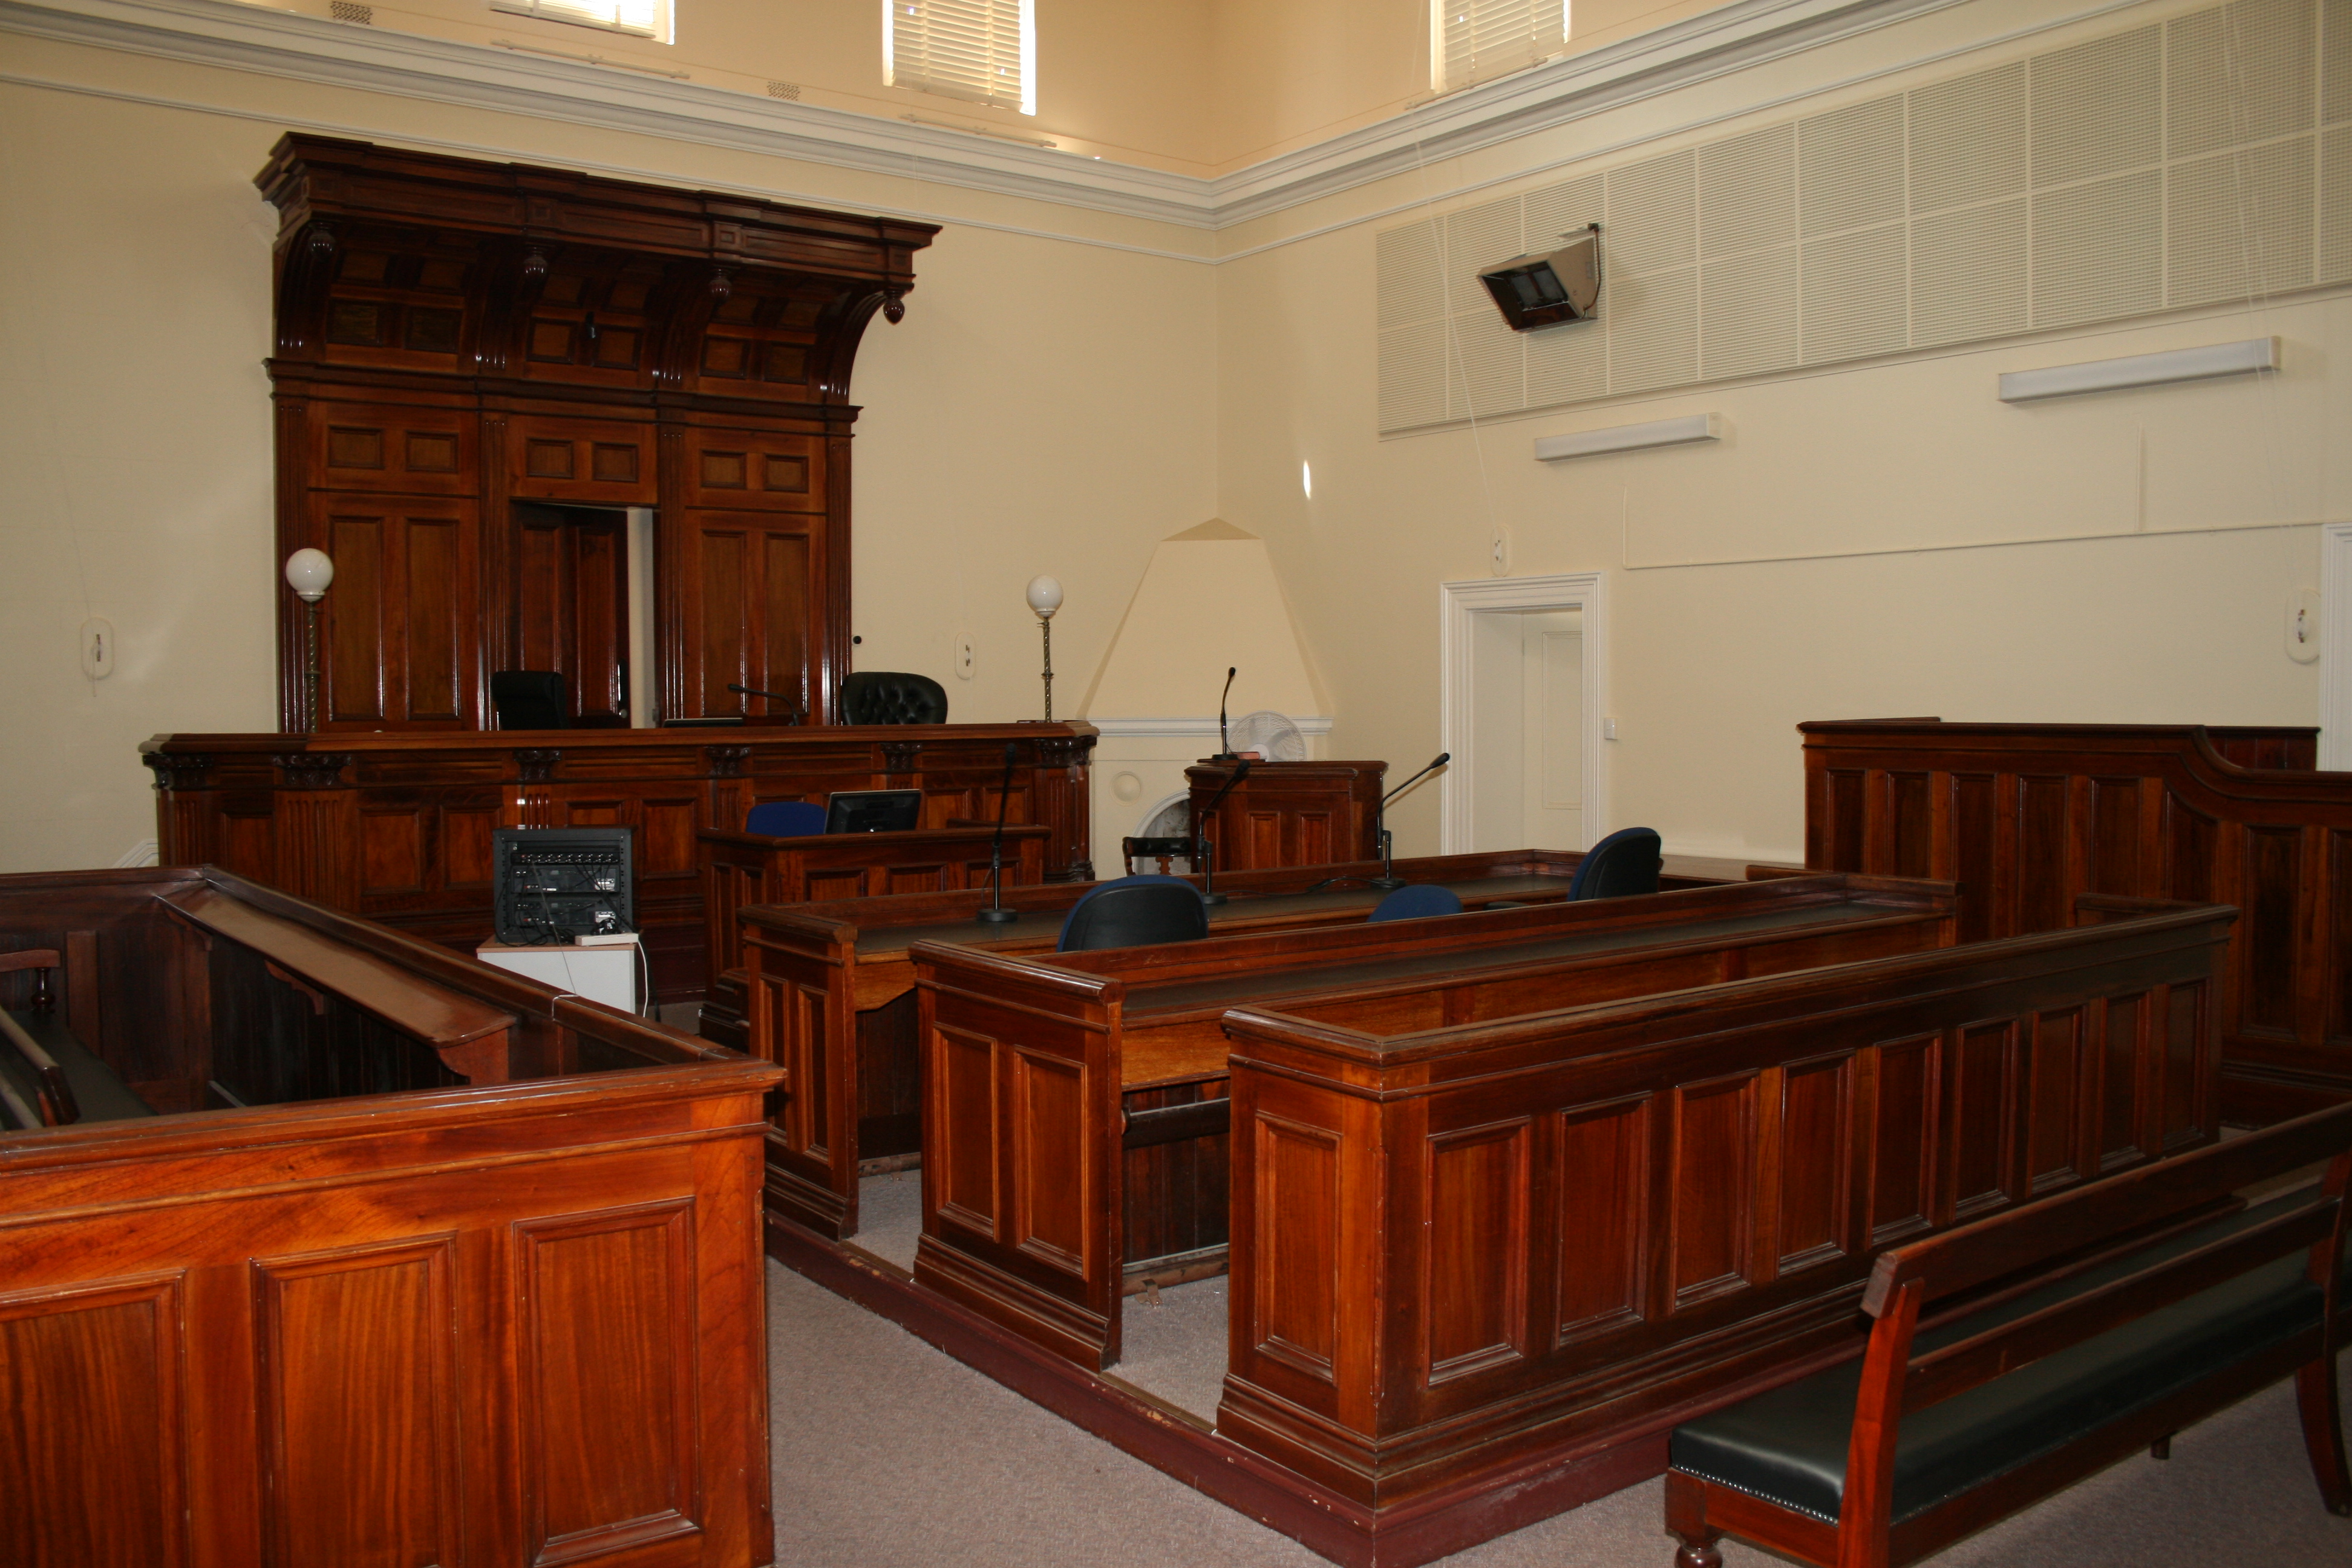
POLYGON ((1421 1030, 1950 936, 1945 884, 1806 877, 1035 959, 917 943, 915 1279, 1082 1366, 1117 1361, 1122 1293, 1225 1260, 1232 1006, 1421 1030))

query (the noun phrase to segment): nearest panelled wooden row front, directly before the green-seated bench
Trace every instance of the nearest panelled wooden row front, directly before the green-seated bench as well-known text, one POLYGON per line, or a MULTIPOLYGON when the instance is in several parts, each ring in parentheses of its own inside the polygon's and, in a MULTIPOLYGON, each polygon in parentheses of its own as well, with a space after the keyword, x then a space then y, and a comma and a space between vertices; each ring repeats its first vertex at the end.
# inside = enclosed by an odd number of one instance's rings
POLYGON ((1877 1248, 2209 1143, 2230 912, 2103 919, 1442 1030, 1228 1013, 1218 1434, 1367 1507, 1653 1436, 1851 1349, 1877 1248))

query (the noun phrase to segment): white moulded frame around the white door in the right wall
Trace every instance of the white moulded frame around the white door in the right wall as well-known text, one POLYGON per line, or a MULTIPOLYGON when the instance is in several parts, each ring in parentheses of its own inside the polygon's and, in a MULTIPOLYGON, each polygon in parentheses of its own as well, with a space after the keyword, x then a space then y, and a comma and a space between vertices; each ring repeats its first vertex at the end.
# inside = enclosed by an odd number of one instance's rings
POLYGON ((1609 764, 1602 755, 1602 708, 1609 691, 1609 604, 1604 585, 1606 574, 1602 571, 1477 578, 1437 585, 1439 731, 1446 752, 1454 755, 1451 766, 1437 776, 1442 853, 1470 853, 1470 804, 1477 799, 1477 755, 1470 745, 1477 658, 1470 644, 1470 618, 1524 609, 1576 609, 1585 616, 1583 849, 1590 849, 1609 832, 1609 764))

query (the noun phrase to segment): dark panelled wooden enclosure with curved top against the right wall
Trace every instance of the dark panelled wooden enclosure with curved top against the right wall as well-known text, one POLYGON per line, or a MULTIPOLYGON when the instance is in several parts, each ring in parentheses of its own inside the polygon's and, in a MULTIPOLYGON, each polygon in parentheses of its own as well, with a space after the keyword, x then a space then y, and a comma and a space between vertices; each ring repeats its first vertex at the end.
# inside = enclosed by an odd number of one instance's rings
POLYGON ((2312 731, 1804 724, 1806 863, 1950 877, 1969 940, 2056 931, 2082 893, 2241 910, 2223 980, 2223 1114, 2352 1095, 2352 773, 2312 731))

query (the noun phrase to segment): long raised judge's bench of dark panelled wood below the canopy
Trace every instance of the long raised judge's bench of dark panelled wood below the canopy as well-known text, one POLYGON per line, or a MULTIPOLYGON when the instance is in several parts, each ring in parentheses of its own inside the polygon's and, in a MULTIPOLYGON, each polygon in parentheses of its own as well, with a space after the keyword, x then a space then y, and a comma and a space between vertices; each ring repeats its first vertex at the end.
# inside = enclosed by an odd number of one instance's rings
POLYGON ((1007 741, 1021 752, 1011 818, 1047 827, 1042 875, 1091 879, 1089 724, 155 736, 139 750, 165 865, 223 865, 468 952, 489 936, 499 827, 633 827, 637 926, 654 990, 675 1001, 708 985, 701 830, 882 788, 922 790, 924 825, 946 827, 995 811, 1007 741))

